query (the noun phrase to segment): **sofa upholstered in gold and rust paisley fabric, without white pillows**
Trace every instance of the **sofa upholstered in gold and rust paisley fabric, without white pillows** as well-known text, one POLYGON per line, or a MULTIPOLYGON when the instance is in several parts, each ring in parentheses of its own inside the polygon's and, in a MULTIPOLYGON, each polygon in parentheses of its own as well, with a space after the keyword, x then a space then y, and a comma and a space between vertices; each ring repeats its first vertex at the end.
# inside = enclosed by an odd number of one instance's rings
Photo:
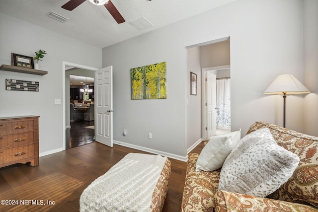
POLYGON ((264 128, 279 146, 298 155, 291 177, 266 197, 219 190, 222 168, 196 171, 199 154, 190 153, 181 212, 318 212, 318 138, 264 122, 252 124, 246 136, 264 128))

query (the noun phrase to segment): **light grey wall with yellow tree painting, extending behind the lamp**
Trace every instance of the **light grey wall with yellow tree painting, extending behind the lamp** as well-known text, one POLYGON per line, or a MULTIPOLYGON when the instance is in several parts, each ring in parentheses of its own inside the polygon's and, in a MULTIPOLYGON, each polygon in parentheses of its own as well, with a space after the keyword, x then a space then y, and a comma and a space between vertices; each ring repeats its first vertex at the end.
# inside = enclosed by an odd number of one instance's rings
MULTIPOLYGON (((282 97, 262 92, 282 73, 304 81, 303 1, 239 0, 102 49, 103 67, 114 66, 114 139, 185 157, 185 47, 228 36, 232 130, 243 135, 254 121, 282 125, 282 97), (129 70, 163 61, 167 99, 131 100, 129 70)), ((303 108, 302 96, 288 97, 288 128, 303 131, 303 108)))

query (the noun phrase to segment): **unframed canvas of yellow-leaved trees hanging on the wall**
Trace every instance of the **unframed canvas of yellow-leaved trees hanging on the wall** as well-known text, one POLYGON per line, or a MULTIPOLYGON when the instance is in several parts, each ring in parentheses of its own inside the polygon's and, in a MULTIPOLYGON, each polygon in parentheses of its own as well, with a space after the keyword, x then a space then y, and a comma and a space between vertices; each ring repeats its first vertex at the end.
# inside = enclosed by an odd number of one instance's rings
POLYGON ((166 99, 166 62, 130 69, 131 99, 166 99))

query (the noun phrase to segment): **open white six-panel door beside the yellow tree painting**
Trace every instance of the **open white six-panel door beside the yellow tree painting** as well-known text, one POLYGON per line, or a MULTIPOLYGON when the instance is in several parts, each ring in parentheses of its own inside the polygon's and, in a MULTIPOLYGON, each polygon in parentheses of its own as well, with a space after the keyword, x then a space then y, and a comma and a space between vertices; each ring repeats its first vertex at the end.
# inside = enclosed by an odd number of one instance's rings
POLYGON ((95 71, 95 141, 113 146, 113 67, 95 71))

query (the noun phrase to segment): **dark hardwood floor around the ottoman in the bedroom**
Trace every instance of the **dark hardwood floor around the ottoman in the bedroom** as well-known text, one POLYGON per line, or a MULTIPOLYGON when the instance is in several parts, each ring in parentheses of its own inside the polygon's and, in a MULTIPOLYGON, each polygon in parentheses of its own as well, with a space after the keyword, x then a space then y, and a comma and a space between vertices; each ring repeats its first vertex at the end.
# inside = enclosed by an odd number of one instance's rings
MULTIPOLYGON (((200 152, 202 148, 203 142, 192 152, 200 152)), ((36 167, 15 164, 0 168, 0 200, 11 203, 0 205, 0 212, 77 212, 83 190, 129 152, 146 153, 116 144, 111 148, 91 142, 42 156, 36 167), (15 200, 18 204, 12 205, 15 200)), ((162 211, 179 212, 186 162, 169 159, 169 190, 162 211)))

